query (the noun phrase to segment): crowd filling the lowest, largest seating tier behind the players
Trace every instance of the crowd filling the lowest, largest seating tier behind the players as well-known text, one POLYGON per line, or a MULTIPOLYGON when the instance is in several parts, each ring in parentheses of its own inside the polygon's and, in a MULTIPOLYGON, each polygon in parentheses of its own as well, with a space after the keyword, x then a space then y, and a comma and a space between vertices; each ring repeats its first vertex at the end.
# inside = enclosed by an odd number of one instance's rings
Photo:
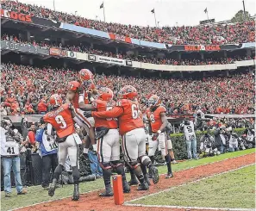
MULTIPOLYGON (((2 64, 1 115, 45 114, 48 98, 58 92, 65 99, 67 83, 77 79, 77 71, 2 64)), ((95 74, 95 81, 115 92, 125 84, 133 85, 142 106, 148 95, 157 94, 169 114, 193 114, 198 106, 210 114, 254 112, 251 73, 199 80, 95 74)))

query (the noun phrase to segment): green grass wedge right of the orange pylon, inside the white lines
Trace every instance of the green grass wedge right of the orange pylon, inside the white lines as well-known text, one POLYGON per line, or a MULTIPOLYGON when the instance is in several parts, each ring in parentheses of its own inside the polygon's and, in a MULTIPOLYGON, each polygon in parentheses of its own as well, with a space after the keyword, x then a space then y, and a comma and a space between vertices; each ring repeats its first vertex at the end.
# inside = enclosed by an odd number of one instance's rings
POLYGON ((134 202, 204 208, 255 208, 255 165, 134 202))

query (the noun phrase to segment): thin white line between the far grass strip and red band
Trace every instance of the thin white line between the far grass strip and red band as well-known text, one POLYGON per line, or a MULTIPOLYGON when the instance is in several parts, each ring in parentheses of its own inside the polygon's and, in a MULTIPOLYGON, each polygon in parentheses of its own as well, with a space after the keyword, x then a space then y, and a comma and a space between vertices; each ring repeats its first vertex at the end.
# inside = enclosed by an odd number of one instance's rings
MULTIPOLYGON (((255 153, 255 152, 251 152, 251 153, 244 154, 244 155, 239 155, 239 156, 236 156, 236 157, 233 157, 233 158, 239 158, 239 157, 247 156, 247 155, 250 155, 250 154, 253 154, 253 153, 255 153)), ((228 160, 228 159, 232 159, 232 158, 225 158, 225 159, 218 160, 218 161, 215 161, 215 162, 213 161, 213 162, 210 162, 210 163, 207 163, 207 164, 219 163, 219 162, 221 162, 221 161, 223 161, 223 160, 228 160)), ((184 161, 184 162, 185 162, 185 161, 184 161)), ((186 171, 186 170, 194 169, 194 168, 201 167, 201 166, 204 166, 204 165, 207 165, 207 164, 200 164, 200 165, 197 165, 197 166, 188 167, 188 168, 186 168, 186 169, 182 169, 182 170, 178 170, 178 171, 186 171)), ((178 172, 178 171, 175 171, 175 172, 178 172)), ((160 174, 160 175, 165 175, 165 174, 160 174)), ((40 185, 38 185, 38 186, 40 186, 40 185)), ((90 191, 84 192, 84 193, 82 193, 82 194, 93 193, 93 192, 97 192, 98 190, 101 190, 101 189, 90 190, 90 191)), ((42 203, 59 201, 59 200, 66 199, 66 198, 69 198, 69 197, 72 197, 72 195, 65 196, 65 197, 62 197, 62 198, 59 198, 59 199, 49 200, 49 201, 46 201, 46 202, 39 202, 39 203, 30 204, 30 205, 27 205, 27 206, 24 206, 24 207, 21 207, 21 208, 29 208, 29 207, 33 207, 33 206, 35 206, 35 205, 39 205, 39 204, 42 204, 42 203)), ((131 201, 129 201, 129 202, 131 202, 131 201)), ((126 203, 126 202, 125 202, 125 203, 126 203)), ((21 209, 21 208, 9 209, 9 210, 7 210, 7 211, 18 210, 18 209, 21 209)))

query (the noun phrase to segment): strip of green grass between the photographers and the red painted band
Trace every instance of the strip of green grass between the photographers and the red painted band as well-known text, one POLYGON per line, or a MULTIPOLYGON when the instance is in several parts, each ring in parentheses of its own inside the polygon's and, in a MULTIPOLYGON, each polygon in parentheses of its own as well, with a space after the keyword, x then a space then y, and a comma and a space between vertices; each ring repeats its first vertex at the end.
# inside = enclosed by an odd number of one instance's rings
MULTIPOLYGON (((198 160, 184 161, 179 164, 173 164, 173 171, 180 171, 190 167, 196 167, 201 164, 209 164, 225 158, 234 158, 237 156, 245 155, 248 153, 255 152, 255 149, 250 149, 240 152, 230 152, 220 156, 215 156, 211 158, 202 158, 198 160)), ((166 167, 159 166, 159 173, 165 173, 166 167)), ((97 179, 94 182, 80 183, 80 193, 91 191, 94 189, 103 189, 103 179, 97 179)), ((47 191, 43 190, 41 186, 28 187, 28 195, 16 195, 16 189, 12 189, 12 195, 10 198, 4 197, 4 192, 1 192, 1 210, 9 210, 12 208, 21 208, 23 206, 33 205, 34 203, 47 202, 49 200, 57 200, 59 198, 67 197, 72 195, 72 185, 64 185, 63 188, 56 189, 55 195, 49 197, 47 191)))

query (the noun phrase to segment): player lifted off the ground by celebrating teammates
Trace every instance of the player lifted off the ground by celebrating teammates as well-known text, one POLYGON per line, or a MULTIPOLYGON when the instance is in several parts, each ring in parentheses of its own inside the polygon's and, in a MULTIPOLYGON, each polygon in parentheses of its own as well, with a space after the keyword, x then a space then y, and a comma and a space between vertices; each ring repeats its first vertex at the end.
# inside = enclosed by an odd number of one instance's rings
POLYGON ((91 96, 91 91, 95 90, 95 84, 93 82, 93 74, 88 69, 82 69, 78 74, 79 82, 72 81, 69 83, 69 90, 67 93, 67 99, 74 105, 74 112, 78 116, 79 126, 84 127, 87 136, 85 139, 84 154, 88 154, 89 147, 92 145, 93 151, 97 151, 96 139, 95 139, 95 121, 90 116, 84 117, 84 111, 79 109, 79 104, 84 102, 85 104, 91 103, 94 99, 91 96), (82 92, 79 90, 83 90, 82 92))

